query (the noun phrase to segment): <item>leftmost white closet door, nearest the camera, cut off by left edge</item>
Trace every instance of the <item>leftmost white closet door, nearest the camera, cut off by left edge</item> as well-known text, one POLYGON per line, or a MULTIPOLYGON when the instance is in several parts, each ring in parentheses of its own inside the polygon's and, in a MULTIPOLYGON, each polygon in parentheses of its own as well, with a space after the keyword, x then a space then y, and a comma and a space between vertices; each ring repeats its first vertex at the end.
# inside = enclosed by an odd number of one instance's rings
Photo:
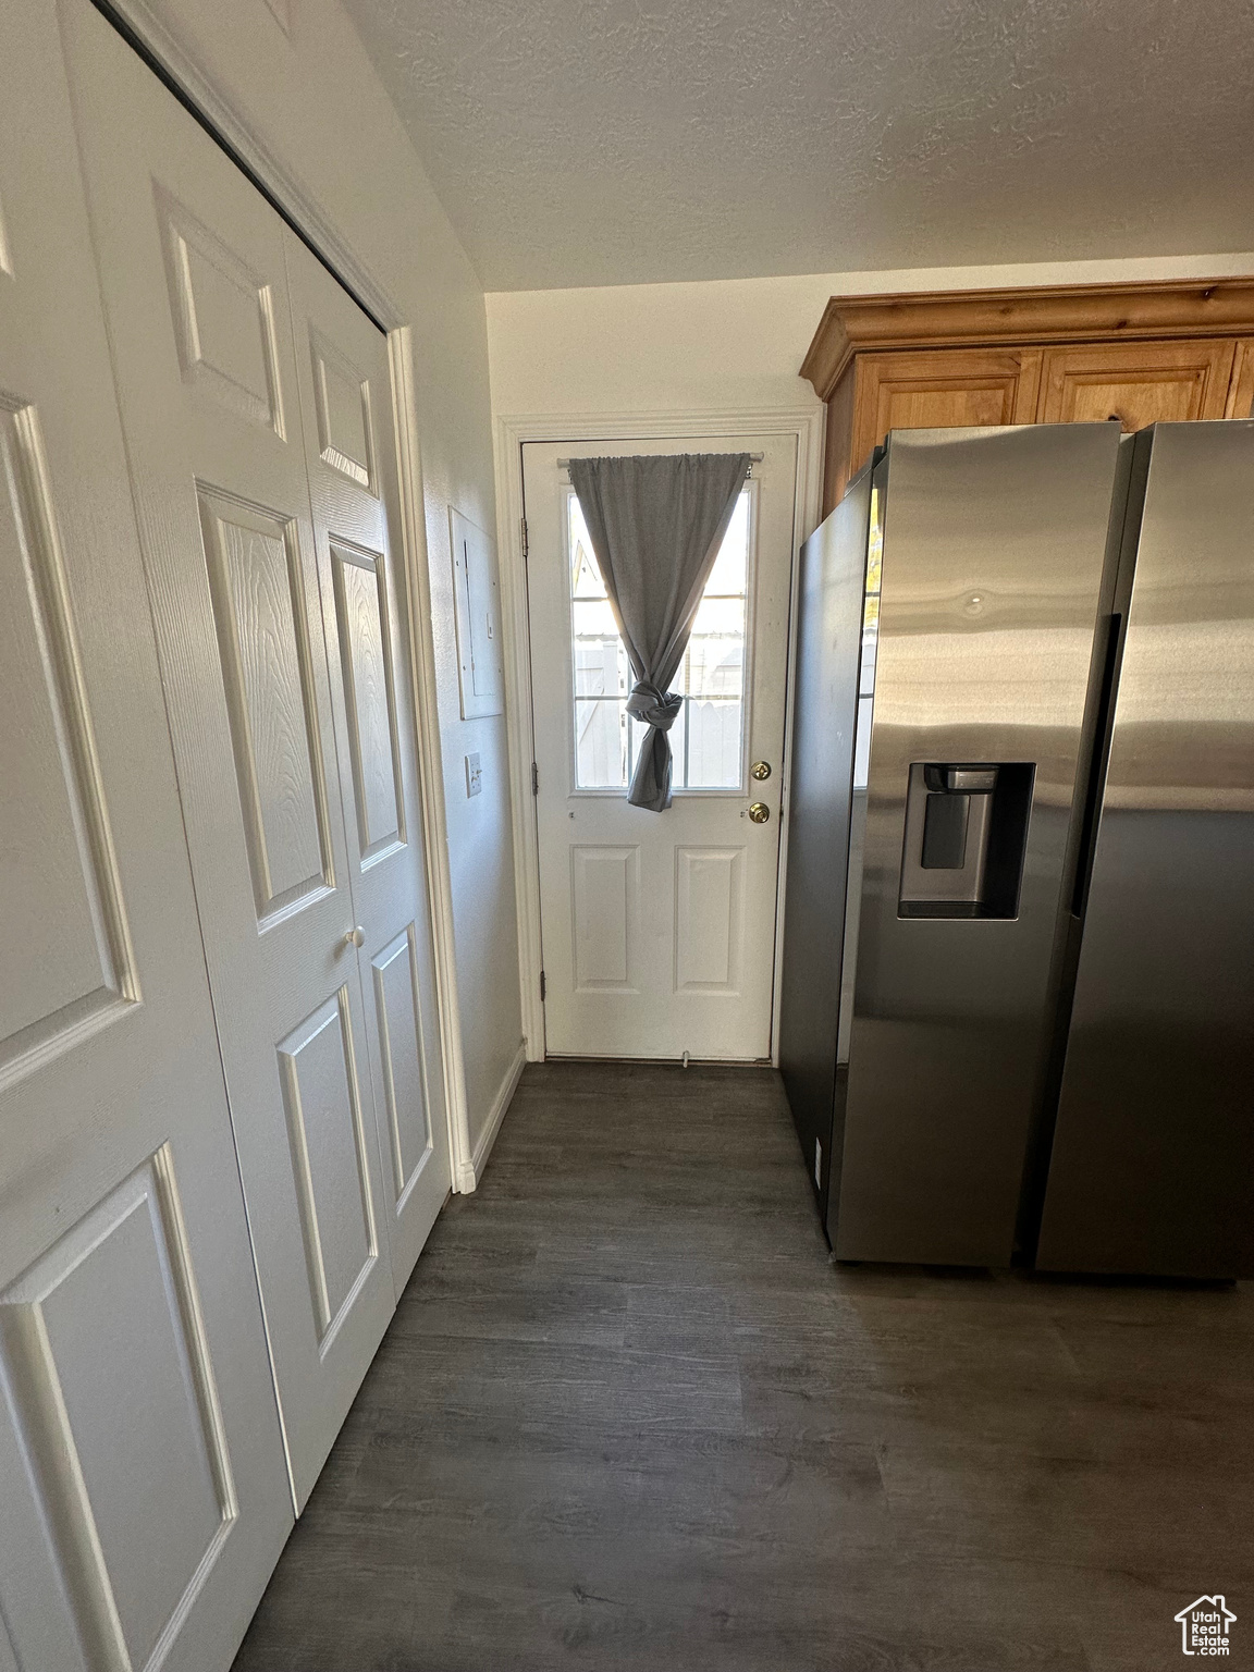
POLYGON ((291 1528, 55 10, 0 52, 0 1667, 221 1672, 291 1528))

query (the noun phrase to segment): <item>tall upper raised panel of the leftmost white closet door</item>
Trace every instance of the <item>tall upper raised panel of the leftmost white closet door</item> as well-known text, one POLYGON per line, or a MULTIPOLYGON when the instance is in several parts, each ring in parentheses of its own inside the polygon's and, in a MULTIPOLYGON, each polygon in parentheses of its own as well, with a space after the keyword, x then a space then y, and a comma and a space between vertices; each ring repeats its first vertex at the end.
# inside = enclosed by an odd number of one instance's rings
POLYGON ((35 408, 0 393, 0 1085, 139 997, 35 408))

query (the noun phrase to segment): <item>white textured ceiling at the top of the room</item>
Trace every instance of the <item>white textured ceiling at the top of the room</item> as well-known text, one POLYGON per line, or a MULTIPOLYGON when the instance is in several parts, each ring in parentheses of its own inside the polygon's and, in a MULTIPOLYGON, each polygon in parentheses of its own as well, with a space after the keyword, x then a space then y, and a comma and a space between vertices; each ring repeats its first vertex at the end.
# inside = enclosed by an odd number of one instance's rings
POLYGON ((1254 0, 346 0, 485 289, 1254 244, 1254 0))

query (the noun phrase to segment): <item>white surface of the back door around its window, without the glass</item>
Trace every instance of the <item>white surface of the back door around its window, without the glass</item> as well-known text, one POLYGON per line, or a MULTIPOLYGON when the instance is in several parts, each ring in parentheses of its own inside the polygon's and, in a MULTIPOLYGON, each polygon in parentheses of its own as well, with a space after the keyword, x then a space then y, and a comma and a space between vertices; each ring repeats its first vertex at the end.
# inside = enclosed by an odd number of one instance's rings
MULTIPOLYGON (((761 1060, 771 1053, 779 788, 794 435, 523 446, 538 793, 545 1048, 552 1055, 761 1060), (749 592, 739 781, 677 789, 669 811, 624 789, 577 788, 568 502, 558 458, 756 451, 749 483, 749 592), (766 781, 749 767, 764 761, 766 781), (759 801, 769 819, 754 824, 759 801)), ((632 722, 634 724, 634 722, 632 722)), ((672 744, 679 744, 672 732, 672 744)))

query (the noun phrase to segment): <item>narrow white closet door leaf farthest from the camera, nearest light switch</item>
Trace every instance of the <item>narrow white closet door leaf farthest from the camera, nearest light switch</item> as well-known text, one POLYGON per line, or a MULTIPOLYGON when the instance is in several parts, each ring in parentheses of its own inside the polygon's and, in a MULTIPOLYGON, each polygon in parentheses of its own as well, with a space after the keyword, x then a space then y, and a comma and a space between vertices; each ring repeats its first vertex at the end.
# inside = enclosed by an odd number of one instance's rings
POLYGON ((386 338, 284 231, 396 1294, 450 1185, 386 338))

